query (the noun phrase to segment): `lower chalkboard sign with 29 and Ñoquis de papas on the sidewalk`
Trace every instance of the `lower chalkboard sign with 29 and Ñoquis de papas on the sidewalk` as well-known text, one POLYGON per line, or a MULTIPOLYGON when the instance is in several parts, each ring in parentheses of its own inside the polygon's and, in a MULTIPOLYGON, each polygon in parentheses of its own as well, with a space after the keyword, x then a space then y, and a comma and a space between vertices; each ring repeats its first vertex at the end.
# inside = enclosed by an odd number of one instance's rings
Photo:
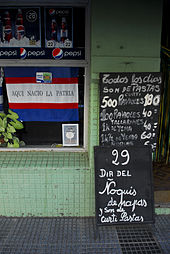
POLYGON ((97 225, 153 223, 151 147, 95 147, 97 225))

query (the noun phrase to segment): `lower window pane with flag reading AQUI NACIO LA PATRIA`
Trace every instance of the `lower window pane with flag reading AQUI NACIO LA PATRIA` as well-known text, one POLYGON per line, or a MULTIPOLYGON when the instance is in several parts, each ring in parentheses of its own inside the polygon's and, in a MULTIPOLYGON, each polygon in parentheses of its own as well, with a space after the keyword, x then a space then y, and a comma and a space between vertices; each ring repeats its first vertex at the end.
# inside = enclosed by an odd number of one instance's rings
POLYGON ((4 74, 4 109, 23 121, 18 137, 26 145, 63 144, 63 124, 78 125, 83 145, 84 68, 6 67, 4 74))

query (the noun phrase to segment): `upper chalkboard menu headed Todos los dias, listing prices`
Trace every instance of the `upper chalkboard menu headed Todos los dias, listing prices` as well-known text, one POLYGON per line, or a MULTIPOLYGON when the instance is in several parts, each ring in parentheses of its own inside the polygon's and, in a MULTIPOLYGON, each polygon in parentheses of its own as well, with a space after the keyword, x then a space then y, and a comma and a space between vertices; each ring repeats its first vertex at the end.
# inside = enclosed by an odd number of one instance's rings
POLYGON ((156 148, 161 74, 100 73, 100 145, 156 148))

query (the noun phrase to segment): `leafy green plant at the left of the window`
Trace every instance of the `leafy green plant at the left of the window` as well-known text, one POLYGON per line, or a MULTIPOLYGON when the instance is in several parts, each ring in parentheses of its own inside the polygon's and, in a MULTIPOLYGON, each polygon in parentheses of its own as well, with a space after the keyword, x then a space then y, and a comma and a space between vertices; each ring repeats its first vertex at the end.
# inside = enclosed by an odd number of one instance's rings
POLYGON ((16 136, 16 130, 24 128, 23 124, 17 120, 18 114, 8 109, 8 114, 0 113, 0 146, 20 147, 24 144, 16 136))

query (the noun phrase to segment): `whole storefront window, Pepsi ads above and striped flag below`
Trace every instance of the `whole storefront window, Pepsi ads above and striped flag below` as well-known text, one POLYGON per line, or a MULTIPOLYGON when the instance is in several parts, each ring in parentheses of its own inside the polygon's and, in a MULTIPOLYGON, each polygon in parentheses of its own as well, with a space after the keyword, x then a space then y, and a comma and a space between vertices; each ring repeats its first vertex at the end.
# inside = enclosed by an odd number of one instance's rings
POLYGON ((18 114, 26 147, 85 147, 86 16, 81 5, 0 8, 0 109, 18 114))

